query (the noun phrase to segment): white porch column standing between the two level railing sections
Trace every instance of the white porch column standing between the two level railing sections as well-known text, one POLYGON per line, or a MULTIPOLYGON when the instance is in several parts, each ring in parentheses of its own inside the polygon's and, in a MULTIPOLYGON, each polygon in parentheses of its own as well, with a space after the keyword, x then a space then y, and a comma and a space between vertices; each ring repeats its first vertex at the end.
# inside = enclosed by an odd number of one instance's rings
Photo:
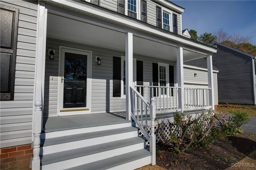
POLYGON ((183 74, 183 48, 177 47, 177 75, 178 75, 178 99, 179 99, 179 108, 181 112, 184 112, 185 109, 185 99, 184 99, 184 74, 183 74))

